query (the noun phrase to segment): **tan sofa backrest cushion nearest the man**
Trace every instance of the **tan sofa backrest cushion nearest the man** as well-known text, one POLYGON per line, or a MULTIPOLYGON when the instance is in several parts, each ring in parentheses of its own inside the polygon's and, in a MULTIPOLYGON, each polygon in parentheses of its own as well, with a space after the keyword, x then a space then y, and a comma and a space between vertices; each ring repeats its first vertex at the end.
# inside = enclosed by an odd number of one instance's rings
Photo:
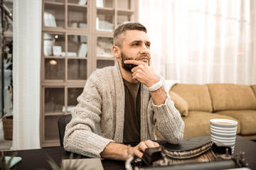
POLYGON ((181 96, 188 102, 188 111, 212 112, 208 86, 200 84, 175 84, 171 91, 181 96))

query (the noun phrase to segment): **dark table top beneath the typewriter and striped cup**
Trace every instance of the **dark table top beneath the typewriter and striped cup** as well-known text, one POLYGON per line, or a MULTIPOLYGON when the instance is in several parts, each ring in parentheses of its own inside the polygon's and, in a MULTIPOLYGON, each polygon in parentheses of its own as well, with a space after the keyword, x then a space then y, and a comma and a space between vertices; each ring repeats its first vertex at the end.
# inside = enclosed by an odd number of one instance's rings
MULTIPOLYGON (((184 138, 181 144, 178 145, 171 145, 167 142, 159 141, 161 145, 173 150, 193 149, 195 147, 200 147, 207 142, 210 142, 210 136, 184 138)), ((243 137, 237 136, 234 154, 238 154, 241 151, 245 152, 245 162, 249 163, 248 167, 250 169, 256 169, 256 142, 252 142, 243 137)), ((5 154, 8 156, 14 152, 18 152, 16 156, 21 157, 22 161, 14 166, 13 169, 51 169, 50 164, 48 164, 49 156, 53 158, 53 160, 59 165, 63 159, 68 159, 70 157, 70 152, 65 152, 63 147, 8 151, 5 152, 5 154)), ((74 154, 73 158, 77 157, 81 156, 74 154)), ((106 170, 125 169, 123 161, 114 161, 109 159, 103 159, 102 166, 106 170)))

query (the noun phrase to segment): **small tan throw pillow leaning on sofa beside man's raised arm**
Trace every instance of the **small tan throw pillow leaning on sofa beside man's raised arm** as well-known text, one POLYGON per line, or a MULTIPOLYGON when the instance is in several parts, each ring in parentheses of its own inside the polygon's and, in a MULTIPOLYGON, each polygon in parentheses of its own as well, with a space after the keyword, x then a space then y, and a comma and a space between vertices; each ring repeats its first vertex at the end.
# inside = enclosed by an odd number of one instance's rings
POLYGON ((178 109, 181 116, 188 115, 188 103, 174 91, 169 91, 171 101, 174 101, 174 106, 178 109))

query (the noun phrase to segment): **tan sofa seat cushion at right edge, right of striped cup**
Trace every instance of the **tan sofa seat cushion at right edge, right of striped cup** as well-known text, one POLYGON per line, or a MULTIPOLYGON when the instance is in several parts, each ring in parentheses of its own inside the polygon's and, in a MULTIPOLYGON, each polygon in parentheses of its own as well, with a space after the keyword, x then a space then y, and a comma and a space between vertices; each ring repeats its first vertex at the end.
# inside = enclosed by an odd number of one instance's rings
POLYGON ((256 111, 220 111, 220 115, 228 115, 239 120, 241 127, 241 135, 256 134, 256 111))

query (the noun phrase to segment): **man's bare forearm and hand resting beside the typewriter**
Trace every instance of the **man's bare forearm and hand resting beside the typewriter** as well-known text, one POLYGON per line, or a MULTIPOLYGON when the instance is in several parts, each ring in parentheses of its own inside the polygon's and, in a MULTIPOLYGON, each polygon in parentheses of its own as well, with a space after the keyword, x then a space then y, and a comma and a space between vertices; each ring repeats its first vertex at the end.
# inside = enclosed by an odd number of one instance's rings
POLYGON ((151 140, 146 140, 140 142, 136 147, 129 147, 128 151, 127 145, 110 142, 109 145, 105 147, 105 149, 100 155, 101 157, 106 159, 116 159, 125 161, 128 159, 128 152, 133 157, 142 158, 145 149, 149 147, 159 147, 159 144, 151 140))

